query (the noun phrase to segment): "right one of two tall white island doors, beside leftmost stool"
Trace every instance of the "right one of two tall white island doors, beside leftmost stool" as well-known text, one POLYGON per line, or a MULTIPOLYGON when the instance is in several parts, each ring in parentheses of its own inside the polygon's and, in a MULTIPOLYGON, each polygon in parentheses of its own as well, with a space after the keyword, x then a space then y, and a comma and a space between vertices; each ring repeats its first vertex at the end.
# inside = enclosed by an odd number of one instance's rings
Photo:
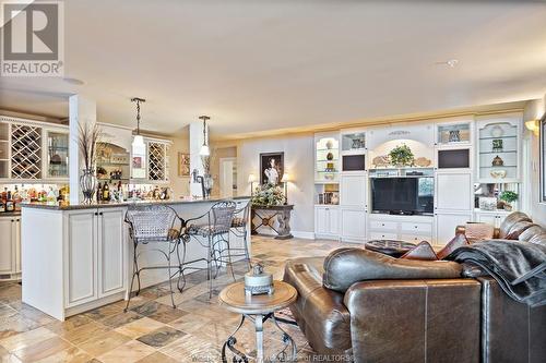
POLYGON ((99 209, 98 297, 124 290, 126 233, 123 209, 99 209))

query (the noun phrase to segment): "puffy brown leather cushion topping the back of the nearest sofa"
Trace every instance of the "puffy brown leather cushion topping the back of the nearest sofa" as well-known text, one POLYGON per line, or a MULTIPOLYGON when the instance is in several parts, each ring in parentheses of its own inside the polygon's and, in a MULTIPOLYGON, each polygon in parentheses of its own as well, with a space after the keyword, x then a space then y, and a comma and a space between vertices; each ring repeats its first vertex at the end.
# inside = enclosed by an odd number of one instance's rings
POLYGON ((461 276, 461 265, 447 261, 414 261, 380 253, 344 247, 324 259, 322 285, 345 292, 353 283, 366 280, 442 279, 461 276))

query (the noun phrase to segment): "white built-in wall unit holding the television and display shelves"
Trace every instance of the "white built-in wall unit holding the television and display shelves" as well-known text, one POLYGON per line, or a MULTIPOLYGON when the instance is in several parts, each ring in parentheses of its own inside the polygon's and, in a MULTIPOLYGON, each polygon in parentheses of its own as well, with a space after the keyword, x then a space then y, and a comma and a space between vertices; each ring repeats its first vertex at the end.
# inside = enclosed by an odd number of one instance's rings
POLYGON ((458 225, 499 226, 519 207, 503 192, 520 194, 521 133, 522 112, 317 133, 314 234, 444 244, 458 225))

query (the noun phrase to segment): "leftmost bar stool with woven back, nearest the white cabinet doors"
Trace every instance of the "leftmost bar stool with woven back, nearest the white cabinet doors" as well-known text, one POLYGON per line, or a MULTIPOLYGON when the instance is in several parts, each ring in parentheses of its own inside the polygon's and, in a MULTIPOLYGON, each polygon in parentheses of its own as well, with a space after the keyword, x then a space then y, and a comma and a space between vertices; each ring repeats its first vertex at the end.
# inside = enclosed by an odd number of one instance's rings
MULTIPOLYGON (((181 227, 183 226, 183 220, 178 217, 178 214, 169 206, 165 205, 149 205, 149 206, 130 206, 126 214, 126 222, 129 223, 129 235, 133 241, 133 275, 131 278, 131 286, 129 288, 127 305, 123 310, 127 312, 129 308, 129 303, 131 302, 131 293, 134 283, 134 277, 139 282, 139 289, 136 290, 136 295, 140 293, 141 282, 140 274, 145 269, 159 269, 167 268, 169 277, 169 288, 170 288, 170 301, 173 307, 176 308, 174 291, 173 291, 173 277, 180 274, 180 254, 179 245, 182 241, 182 235, 180 233, 181 227), (159 252, 167 259, 167 266, 147 266, 139 267, 139 256, 140 252, 139 245, 149 243, 161 243, 168 244, 167 251, 159 247, 151 249, 152 251, 159 252), (176 253, 178 258, 178 264, 171 265, 171 255, 176 253), (176 273, 173 274, 173 268, 176 273)), ((179 277, 180 279, 180 277, 179 277)), ((180 291, 181 292, 181 291, 180 291)))

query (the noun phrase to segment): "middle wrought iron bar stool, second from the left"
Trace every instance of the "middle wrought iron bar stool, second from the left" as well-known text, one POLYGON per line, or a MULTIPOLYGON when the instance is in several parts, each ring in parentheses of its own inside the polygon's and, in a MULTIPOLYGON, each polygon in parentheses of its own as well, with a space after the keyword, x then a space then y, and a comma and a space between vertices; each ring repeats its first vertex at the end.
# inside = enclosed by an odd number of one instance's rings
POLYGON ((222 201, 215 203, 211 207, 211 209, 209 209, 205 214, 186 220, 185 235, 193 238, 193 240, 195 240, 199 244, 206 247, 206 257, 187 262, 186 243, 185 243, 182 252, 183 256, 182 264, 180 265, 181 278, 186 283, 186 278, 183 275, 183 271, 186 269, 194 269, 194 270, 206 269, 206 279, 209 281, 209 298, 212 298, 212 291, 213 291, 212 280, 217 277, 222 263, 229 265, 229 268, 232 269, 232 275, 234 276, 235 279, 229 250, 226 249, 225 246, 229 245, 229 230, 232 228, 232 222, 236 207, 237 205, 233 201, 222 201), (227 259, 224 259, 222 257, 222 254, 226 251, 228 255, 227 259), (198 262, 206 262, 206 268, 192 266, 194 263, 198 262), (214 277, 212 274, 213 263, 216 267, 214 277))

